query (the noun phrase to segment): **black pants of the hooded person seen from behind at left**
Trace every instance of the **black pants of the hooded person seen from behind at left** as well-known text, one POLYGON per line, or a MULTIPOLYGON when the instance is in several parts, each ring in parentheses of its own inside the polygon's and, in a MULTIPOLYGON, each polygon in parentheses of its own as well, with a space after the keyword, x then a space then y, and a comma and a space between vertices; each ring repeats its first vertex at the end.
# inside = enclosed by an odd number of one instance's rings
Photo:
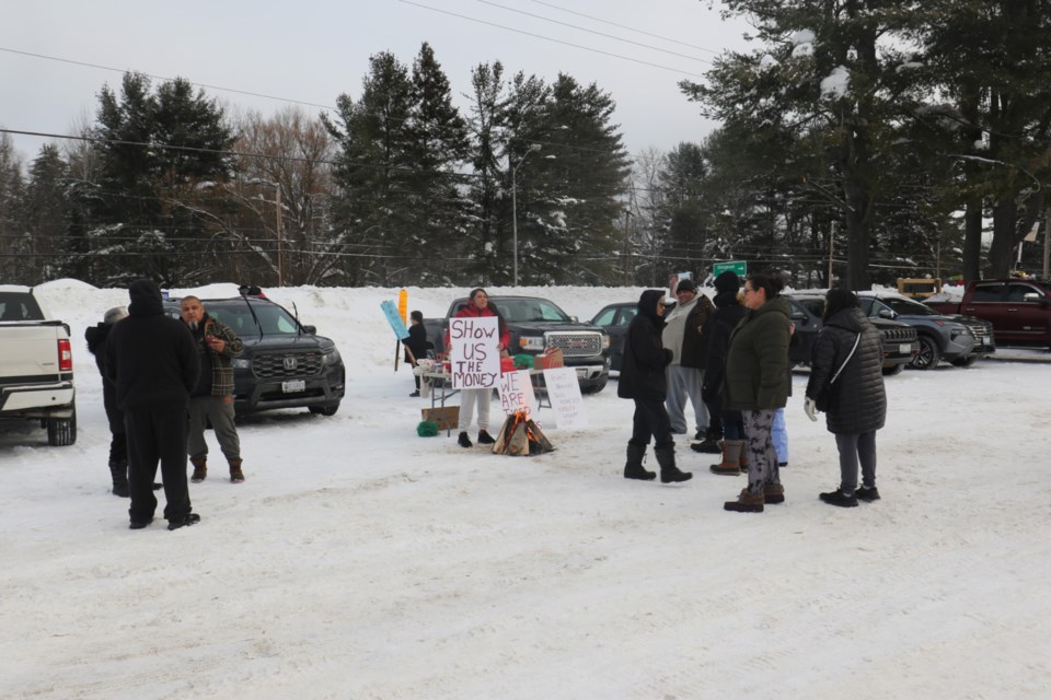
POLYGON ((157 497, 153 479, 161 463, 164 482, 164 517, 169 521, 190 513, 189 487, 186 482, 186 435, 188 423, 185 406, 139 408, 125 411, 124 425, 128 438, 128 487, 131 491, 132 521, 153 517, 157 497))

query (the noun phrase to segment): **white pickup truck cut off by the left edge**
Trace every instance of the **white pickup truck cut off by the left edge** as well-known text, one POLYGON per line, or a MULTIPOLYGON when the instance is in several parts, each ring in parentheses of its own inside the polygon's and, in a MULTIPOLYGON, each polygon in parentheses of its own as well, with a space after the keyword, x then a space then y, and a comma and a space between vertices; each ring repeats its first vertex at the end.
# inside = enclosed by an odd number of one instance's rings
POLYGON ((0 284, 0 420, 39 420, 50 445, 77 441, 69 326, 27 287, 0 284))

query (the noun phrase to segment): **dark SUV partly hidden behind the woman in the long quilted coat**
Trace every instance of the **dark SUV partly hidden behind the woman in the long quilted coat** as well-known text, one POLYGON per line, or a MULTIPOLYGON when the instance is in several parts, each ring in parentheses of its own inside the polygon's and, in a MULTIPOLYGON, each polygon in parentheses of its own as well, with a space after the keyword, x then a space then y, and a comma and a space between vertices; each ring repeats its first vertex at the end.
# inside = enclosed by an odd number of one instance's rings
MULTIPOLYGON (((796 324, 796 338, 788 347, 788 360, 793 364, 809 365, 813 343, 821 330, 824 312, 824 294, 797 292, 785 294, 790 307, 790 317, 796 324)), ((883 341, 883 374, 898 374, 920 353, 916 330, 890 318, 869 318, 883 341)))

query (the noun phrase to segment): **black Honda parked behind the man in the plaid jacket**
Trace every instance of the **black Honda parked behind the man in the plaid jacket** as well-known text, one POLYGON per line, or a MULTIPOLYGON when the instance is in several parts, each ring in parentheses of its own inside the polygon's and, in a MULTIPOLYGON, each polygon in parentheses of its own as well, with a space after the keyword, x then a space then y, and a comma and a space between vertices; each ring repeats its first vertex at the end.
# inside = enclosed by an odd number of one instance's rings
MULTIPOLYGON (((316 335, 284 306, 262 296, 203 299, 241 341, 244 354, 233 359, 233 408, 238 415, 275 408, 305 407, 333 416, 346 390, 346 369, 336 343, 316 335)), ((164 302, 178 317, 178 300, 164 302)))

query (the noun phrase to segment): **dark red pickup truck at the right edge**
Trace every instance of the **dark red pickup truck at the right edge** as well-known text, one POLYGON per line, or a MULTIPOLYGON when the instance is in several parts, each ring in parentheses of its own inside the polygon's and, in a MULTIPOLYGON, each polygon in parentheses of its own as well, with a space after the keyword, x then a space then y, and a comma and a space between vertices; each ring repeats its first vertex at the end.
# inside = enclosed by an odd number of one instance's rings
POLYGON ((1009 279, 968 284, 960 303, 926 301, 944 314, 977 316, 993 324, 996 343, 1051 347, 1051 282, 1009 279))

